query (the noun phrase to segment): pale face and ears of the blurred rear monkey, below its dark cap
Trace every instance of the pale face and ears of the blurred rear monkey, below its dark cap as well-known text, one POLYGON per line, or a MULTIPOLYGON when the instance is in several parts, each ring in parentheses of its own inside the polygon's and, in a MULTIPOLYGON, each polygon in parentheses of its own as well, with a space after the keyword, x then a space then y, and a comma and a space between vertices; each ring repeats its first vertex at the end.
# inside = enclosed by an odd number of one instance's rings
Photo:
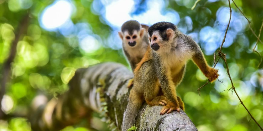
POLYGON ((141 44, 141 38, 144 34, 144 28, 141 28, 141 30, 137 31, 134 30, 131 33, 128 33, 128 31, 125 31, 124 33, 119 32, 119 36, 122 39, 124 46, 128 45, 129 47, 136 47, 141 44))

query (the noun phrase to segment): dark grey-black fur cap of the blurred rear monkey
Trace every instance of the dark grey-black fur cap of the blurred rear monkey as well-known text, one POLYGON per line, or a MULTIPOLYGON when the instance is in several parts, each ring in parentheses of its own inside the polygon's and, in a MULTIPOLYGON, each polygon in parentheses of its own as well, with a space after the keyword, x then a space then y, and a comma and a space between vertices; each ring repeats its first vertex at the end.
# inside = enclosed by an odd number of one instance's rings
POLYGON ((139 31, 141 24, 137 20, 128 20, 122 24, 122 32, 128 31, 129 35, 133 34, 134 30, 139 31))

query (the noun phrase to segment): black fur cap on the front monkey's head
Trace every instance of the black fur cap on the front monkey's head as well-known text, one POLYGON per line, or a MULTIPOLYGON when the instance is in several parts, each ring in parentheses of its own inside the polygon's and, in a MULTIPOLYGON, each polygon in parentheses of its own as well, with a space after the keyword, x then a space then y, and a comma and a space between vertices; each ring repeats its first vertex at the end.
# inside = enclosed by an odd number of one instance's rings
POLYGON ((167 29, 173 29, 174 31, 177 30, 176 26, 173 23, 170 22, 157 22, 155 24, 153 24, 149 29, 148 29, 148 33, 150 35, 150 37, 152 36, 152 33, 156 30, 158 30, 160 32, 161 37, 164 40, 168 40, 167 35, 166 35, 166 30, 167 29))

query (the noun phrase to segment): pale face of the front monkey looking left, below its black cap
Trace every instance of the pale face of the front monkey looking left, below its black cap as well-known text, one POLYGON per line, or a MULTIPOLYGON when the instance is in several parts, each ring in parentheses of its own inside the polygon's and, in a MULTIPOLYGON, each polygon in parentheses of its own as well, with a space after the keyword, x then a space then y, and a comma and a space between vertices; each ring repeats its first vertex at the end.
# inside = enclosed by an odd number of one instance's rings
POLYGON ((172 29, 167 29, 163 32, 155 30, 149 37, 150 47, 157 53, 170 51, 173 44, 173 39, 174 31, 172 29))

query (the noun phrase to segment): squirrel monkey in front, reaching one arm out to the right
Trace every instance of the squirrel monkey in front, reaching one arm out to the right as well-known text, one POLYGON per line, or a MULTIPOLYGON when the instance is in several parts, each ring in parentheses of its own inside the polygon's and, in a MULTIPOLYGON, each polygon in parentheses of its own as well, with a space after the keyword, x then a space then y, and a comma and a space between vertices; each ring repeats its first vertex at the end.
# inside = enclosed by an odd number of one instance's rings
POLYGON ((150 46, 134 71, 134 87, 124 112, 122 130, 135 123, 136 114, 144 101, 150 106, 162 105, 160 114, 184 110, 177 97, 176 86, 183 79, 189 59, 200 68, 210 82, 218 70, 209 67, 199 45, 177 30, 173 23, 158 22, 148 29, 150 46), (161 92, 161 93, 160 93, 161 92))

